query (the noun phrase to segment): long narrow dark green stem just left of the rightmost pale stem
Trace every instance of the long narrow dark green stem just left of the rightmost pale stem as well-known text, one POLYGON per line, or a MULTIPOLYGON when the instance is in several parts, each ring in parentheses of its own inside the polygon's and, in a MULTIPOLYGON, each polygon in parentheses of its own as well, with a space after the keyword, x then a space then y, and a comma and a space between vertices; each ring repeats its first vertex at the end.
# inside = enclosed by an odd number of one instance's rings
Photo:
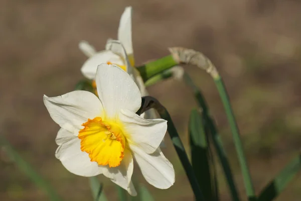
POLYGON ((213 119, 210 117, 206 100, 205 100, 204 96, 202 95, 201 91, 199 90, 199 88, 194 84, 193 80, 186 72, 183 75, 183 79, 193 89, 195 98, 197 99, 197 102, 198 102, 198 105, 203 110, 202 113, 204 116, 205 124, 207 124, 207 126, 209 127, 213 145, 217 151, 217 155, 218 155, 220 163, 222 165, 222 168, 223 168, 223 171, 224 171, 224 174, 226 177, 226 181, 228 183, 228 186, 229 186, 229 189, 231 192, 232 200, 238 201, 239 196, 238 196, 237 188, 235 186, 235 182, 233 179, 233 174, 232 174, 232 171, 230 168, 230 164, 228 162, 228 157, 227 157, 226 151, 224 150, 220 135, 217 131, 217 127, 216 127, 213 119))

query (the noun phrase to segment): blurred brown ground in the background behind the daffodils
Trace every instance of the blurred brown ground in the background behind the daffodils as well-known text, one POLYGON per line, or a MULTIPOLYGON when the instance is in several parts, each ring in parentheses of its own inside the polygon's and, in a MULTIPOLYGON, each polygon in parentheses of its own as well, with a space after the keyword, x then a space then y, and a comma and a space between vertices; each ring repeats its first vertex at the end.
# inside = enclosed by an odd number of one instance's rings
MULTIPOLYGON (((133 7, 137 65, 183 46, 203 52, 218 67, 229 91, 256 192, 300 151, 301 2, 233 1, 0 1, 0 131, 66 200, 92 200, 88 179, 68 172, 54 156, 59 126, 42 96, 73 90, 87 59, 87 40, 97 50, 117 37, 119 18, 133 7)), ((209 75, 185 66, 202 89, 216 119, 241 196, 245 192, 220 98, 209 75)), ((187 143, 190 110, 196 107, 183 83, 170 79, 149 92, 166 105, 187 143)), ((146 184, 156 200, 192 200, 192 191, 170 140, 164 150, 176 169, 168 190, 146 184)), ((188 151, 188 147, 187 147, 188 151)), ((46 195, 2 153, 0 200, 47 200, 46 195)), ((136 168, 134 172, 139 170, 136 168)), ((230 200, 218 168, 221 200, 230 200)), ((111 182, 104 191, 116 199, 111 182)), ((143 178, 140 182, 145 183, 143 178)), ((277 200, 300 200, 301 177, 277 200)))

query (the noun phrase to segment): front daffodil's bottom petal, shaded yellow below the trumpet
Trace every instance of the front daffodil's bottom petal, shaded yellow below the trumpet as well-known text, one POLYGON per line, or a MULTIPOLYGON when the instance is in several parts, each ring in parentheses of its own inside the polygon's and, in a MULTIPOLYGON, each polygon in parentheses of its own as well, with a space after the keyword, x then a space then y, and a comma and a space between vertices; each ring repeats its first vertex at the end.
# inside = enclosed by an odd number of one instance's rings
POLYGON ((103 175, 111 179, 112 182, 127 190, 130 195, 135 196, 137 193, 133 184, 131 183, 133 168, 133 157, 130 151, 125 149, 124 158, 122 159, 120 165, 111 168, 105 166, 105 168, 103 169, 103 175))

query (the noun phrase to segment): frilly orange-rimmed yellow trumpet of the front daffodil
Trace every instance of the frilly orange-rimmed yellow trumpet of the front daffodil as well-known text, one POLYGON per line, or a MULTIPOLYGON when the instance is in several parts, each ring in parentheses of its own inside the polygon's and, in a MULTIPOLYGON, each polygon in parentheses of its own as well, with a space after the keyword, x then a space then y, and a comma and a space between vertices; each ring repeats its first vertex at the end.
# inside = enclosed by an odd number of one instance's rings
POLYGON ((85 128, 78 134, 80 149, 89 154, 91 161, 98 165, 117 167, 123 159, 125 137, 121 125, 114 122, 102 121, 100 117, 82 124, 85 128))

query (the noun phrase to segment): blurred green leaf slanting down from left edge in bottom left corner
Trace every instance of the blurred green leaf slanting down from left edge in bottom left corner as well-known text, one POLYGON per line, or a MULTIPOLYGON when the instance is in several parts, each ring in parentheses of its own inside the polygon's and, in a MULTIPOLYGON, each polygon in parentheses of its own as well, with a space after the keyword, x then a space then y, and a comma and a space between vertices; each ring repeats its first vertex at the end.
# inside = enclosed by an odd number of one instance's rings
POLYGON ((53 187, 46 180, 44 180, 28 162, 22 158, 13 148, 13 146, 5 139, 5 137, 1 135, 0 146, 3 146, 7 155, 16 163, 19 169, 23 171, 39 188, 46 192, 50 200, 62 200, 53 187))

